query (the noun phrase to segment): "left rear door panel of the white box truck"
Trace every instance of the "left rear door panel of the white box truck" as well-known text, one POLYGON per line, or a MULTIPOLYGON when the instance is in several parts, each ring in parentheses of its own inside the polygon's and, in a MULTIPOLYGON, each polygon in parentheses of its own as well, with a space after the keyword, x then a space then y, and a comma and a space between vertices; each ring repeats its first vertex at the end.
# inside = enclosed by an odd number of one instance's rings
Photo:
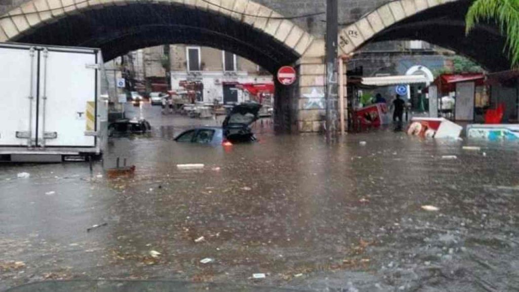
POLYGON ((0 46, 0 146, 29 147, 35 139, 37 54, 28 46, 0 46))

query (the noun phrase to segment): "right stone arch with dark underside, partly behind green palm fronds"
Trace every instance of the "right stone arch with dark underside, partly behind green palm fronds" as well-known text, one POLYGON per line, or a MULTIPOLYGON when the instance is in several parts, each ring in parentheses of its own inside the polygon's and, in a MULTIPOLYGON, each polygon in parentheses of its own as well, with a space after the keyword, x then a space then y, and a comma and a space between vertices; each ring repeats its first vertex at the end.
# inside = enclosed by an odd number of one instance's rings
POLYGON ((451 49, 480 63, 488 71, 510 69, 503 52, 506 38, 491 22, 465 33, 470 0, 396 0, 381 5, 339 33, 343 54, 369 42, 420 39, 451 49), (489 45, 491 44, 491 45, 489 45))

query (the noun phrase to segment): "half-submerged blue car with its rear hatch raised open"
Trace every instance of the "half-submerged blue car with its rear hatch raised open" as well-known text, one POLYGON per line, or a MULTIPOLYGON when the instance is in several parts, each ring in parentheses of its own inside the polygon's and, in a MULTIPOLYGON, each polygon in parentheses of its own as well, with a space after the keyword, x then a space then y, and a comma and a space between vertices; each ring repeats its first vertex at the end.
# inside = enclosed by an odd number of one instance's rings
POLYGON ((250 125, 258 118, 262 105, 242 103, 236 105, 225 117, 222 127, 200 127, 182 132, 177 142, 201 144, 228 144, 256 140, 250 125))

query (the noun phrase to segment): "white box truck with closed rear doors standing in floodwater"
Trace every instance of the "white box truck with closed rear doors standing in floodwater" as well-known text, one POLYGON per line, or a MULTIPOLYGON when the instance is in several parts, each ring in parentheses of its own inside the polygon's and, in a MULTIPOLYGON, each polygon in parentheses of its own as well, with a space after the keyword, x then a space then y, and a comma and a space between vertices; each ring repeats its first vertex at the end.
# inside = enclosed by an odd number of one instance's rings
POLYGON ((0 43, 0 162, 99 156, 102 66, 100 49, 0 43))

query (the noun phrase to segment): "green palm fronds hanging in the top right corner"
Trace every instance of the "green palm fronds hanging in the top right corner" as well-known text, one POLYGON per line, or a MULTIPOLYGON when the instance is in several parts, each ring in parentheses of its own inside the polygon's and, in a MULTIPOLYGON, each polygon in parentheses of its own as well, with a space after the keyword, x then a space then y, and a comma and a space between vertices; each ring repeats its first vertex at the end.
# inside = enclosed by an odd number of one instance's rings
POLYGON ((506 35, 511 66, 519 64, 519 0, 476 0, 465 17, 466 32, 481 21, 495 21, 506 35))

